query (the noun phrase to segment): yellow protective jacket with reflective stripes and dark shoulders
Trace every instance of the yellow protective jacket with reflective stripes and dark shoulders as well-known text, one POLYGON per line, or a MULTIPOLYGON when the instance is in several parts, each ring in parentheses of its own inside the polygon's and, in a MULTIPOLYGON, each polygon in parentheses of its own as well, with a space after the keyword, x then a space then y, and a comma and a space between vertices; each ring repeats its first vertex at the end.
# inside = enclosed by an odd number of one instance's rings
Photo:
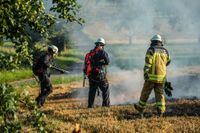
POLYGON ((169 63, 169 53, 162 44, 151 44, 145 56, 144 79, 155 83, 164 83, 166 80, 166 66, 169 63))

